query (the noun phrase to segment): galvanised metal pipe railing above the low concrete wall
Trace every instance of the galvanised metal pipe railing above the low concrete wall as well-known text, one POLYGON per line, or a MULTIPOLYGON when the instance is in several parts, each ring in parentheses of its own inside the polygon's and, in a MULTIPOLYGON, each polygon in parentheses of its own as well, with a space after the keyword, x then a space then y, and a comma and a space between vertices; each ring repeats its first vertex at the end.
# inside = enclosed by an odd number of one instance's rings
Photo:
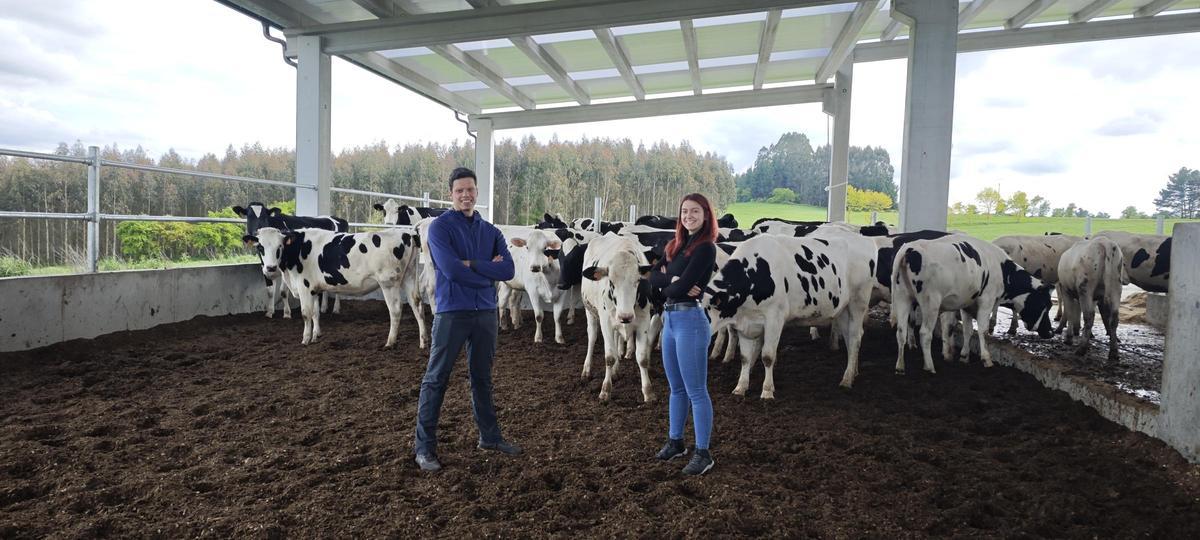
MULTIPOLYGON (((146 214, 102 214, 100 211, 100 170, 102 167, 114 167, 120 169, 145 170, 151 173, 179 174, 206 180, 232 180, 246 184, 258 184, 264 186, 287 187, 294 190, 317 190, 317 186, 283 182, 278 180, 264 180, 250 176, 236 176, 232 174, 209 173, 204 170, 173 169, 138 163, 126 163, 124 161, 103 160, 100 157, 100 146, 88 146, 88 157, 60 156, 56 154, 30 152, 24 150, 11 150, 0 148, 0 156, 24 157, 30 160, 59 161, 65 163, 79 163, 88 166, 88 211, 86 212, 25 212, 25 211, 0 211, 0 218, 36 218, 36 220, 71 220, 88 222, 88 271, 97 271, 100 264, 100 223, 102 221, 173 221, 184 223, 245 223, 246 220, 235 217, 192 217, 192 216, 156 216, 146 214)), ((374 191, 349 190, 344 187, 331 187, 331 192, 368 196, 389 197, 401 200, 413 200, 450 205, 449 200, 431 199, 426 192, 424 197, 408 197, 395 193, 382 193, 374 191)), ((478 208, 487 208, 479 205, 478 208)), ((380 227, 380 228, 410 228, 410 226, 394 226, 384 223, 350 223, 352 227, 380 227)))

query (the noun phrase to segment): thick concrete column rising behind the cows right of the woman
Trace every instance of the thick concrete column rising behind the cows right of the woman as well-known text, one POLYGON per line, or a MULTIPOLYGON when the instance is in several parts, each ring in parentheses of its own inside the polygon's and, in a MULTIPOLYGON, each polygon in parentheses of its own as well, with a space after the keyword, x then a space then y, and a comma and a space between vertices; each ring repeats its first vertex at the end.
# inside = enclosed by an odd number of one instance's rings
POLYGON ((900 228, 905 232, 946 230, 959 2, 895 0, 892 17, 910 29, 900 156, 900 228))

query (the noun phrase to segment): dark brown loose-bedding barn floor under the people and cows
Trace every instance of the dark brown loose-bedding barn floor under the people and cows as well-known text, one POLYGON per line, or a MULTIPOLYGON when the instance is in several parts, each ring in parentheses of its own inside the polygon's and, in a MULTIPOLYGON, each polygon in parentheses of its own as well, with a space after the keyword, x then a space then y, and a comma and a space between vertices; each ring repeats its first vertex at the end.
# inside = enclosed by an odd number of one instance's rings
MULTIPOLYGON (((785 336, 778 400, 730 394, 713 364, 716 467, 694 479, 650 456, 666 404, 624 365, 611 403, 570 346, 502 334, 497 402, 527 455, 474 449, 466 370, 443 412, 437 475, 410 440, 426 353, 382 350, 380 302, 301 323, 262 314, 0 355, 0 538, 22 536, 1190 536, 1200 467, 1007 367, 938 362, 893 374, 872 319, 862 374, 785 336)), ((552 335, 552 334, 551 334, 552 335)), ((412 342, 409 316, 402 338, 412 342)), ((602 365, 602 361, 598 362, 602 365)), ((460 362, 462 367, 462 362, 460 362)), ((660 397, 666 382, 652 368, 660 397)))

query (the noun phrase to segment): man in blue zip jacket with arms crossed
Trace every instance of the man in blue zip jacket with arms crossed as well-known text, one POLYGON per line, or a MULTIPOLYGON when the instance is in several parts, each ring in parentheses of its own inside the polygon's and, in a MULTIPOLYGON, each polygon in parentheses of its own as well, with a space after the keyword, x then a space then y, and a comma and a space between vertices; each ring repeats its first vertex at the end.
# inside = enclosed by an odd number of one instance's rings
POLYGON ((496 354, 496 282, 512 278, 512 257, 504 235, 475 211, 475 173, 460 167, 450 173, 450 200, 456 211, 430 223, 426 245, 437 270, 438 312, 433 316, 430 365, 421 379, 416 404, 416 464, 442 469, 438 461, 438 415, 450 371, 463 343, 470 373, 470 407, 479 427, 479 449, 521 455, 521 448, 500 437, 492 404, 492 356, 496 354))

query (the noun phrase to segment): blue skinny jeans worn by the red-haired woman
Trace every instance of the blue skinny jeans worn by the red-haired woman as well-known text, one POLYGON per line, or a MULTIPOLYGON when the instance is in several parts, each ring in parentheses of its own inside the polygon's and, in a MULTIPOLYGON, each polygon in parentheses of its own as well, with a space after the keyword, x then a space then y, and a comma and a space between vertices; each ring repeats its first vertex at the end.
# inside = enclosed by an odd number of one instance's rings
POLYGON ((683 438, 690 406, 697 449, 707 449, 713 433, 713 401, 708 397, 709 335, 704 310, 662 312, 662 368, 671 384, 668 436, 683 438))

